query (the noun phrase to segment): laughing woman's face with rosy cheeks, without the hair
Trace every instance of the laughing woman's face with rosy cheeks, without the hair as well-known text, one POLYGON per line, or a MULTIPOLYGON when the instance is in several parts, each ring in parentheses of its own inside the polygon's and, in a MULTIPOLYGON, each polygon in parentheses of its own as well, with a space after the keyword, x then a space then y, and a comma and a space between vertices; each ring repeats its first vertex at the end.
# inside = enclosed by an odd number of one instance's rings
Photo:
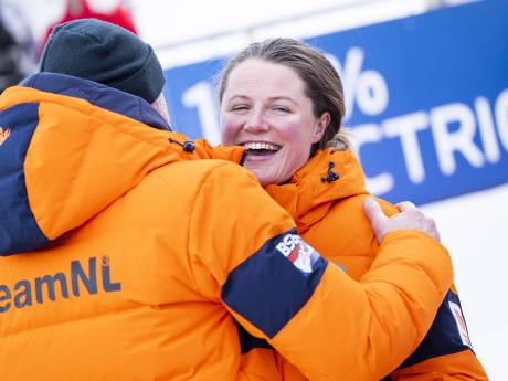
POLYGON ((329 114, 316 118, 305 83, 288 66, 247 60, 231 71, 221 102, 222 142, 248 150, 263 186, 283 183, 309 158, 329 114))

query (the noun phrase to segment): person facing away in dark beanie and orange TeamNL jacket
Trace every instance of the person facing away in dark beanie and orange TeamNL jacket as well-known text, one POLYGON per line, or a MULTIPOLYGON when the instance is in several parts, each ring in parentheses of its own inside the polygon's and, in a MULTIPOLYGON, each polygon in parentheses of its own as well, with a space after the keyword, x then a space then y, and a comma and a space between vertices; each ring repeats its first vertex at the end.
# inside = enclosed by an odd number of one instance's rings
POLYGON ((241 330, 313 380, 395 367, 335 367, 349 354, 324 348, 411 352, 452 284, 432 230, 387 220, 352 279, 237 165, 242 148, 169 131, 163 84, 139 38, 80 20, 0 96, 0 379, 245 380, 241 330))

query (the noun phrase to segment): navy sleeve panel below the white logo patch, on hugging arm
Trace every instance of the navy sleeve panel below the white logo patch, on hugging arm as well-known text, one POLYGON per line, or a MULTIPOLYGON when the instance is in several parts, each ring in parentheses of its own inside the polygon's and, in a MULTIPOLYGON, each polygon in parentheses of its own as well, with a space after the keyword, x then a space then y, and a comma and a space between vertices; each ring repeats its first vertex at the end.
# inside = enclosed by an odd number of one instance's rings
POLYGON ((222 299, 268 338, 273 338, 313 296, 328 262, 322 257, 303 274, 276 246, 287 234, 267 241, 234 268, 222 286, 222 299))

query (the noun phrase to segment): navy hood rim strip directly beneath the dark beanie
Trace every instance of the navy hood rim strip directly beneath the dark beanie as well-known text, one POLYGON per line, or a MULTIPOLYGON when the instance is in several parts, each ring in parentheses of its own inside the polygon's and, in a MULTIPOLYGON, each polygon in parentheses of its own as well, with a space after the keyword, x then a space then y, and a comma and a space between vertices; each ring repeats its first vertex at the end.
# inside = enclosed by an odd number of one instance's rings
POLYGON ((19 85, 81 98, 94 106, 125 115, 150 127, 171 129, 145 99, 93 81, 66 74, 38 73, 29 76, 19 85))

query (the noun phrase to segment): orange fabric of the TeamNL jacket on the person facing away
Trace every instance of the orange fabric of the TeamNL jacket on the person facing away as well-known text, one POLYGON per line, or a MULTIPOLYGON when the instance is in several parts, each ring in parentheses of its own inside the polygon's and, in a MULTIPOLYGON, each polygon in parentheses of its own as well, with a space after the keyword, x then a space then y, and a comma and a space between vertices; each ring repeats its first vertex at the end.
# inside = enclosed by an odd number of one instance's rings
MULTIPOLYGON (((395 232, 363 283, 325 266, 308 301, 268 337, 224 301, 223 286, 295 223, 246 170, 197 160, 239 160, 241 149, 212 152, 198 142, 184 152, 168 141, 186 139, 178 134, 32 88, 3 93, 0 110, 23 102, 39 105, 24 162, 30 211, 54 240, 0 256, 2 381, 252 380, 241 367, 237 322, 310 379, 377 378, 416 346, 451 286, 441 245, 395 232), (426 261, 408 247, 425 251, 426 261), (401 327, 408 319, 420 322, 401 327), (375 367, 358 367, 359 356, 375 367)), ((264 299, 255 303, 267 310, 264 299)), ((258 378, 281 377, 271 356, 258 378)))

